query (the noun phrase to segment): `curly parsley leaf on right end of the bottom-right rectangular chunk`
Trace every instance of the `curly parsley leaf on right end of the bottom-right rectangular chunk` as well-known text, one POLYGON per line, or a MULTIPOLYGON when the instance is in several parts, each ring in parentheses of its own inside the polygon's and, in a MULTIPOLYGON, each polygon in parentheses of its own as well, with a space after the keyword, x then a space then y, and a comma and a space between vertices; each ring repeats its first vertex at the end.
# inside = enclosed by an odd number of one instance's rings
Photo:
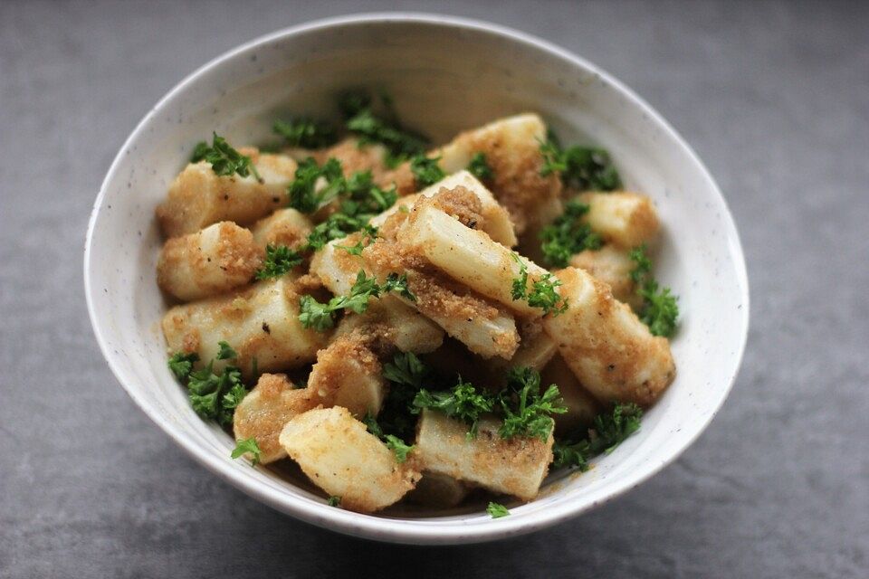
POLYGON ((504 414, 498 431, 501 438, 529 436, 546 441, 555 425, 549 414, 568 412, 557 385, 549 384, 540 394, 540 373, 533 368, 512 368, 504 392, 511 394, 501 395, 504 414))

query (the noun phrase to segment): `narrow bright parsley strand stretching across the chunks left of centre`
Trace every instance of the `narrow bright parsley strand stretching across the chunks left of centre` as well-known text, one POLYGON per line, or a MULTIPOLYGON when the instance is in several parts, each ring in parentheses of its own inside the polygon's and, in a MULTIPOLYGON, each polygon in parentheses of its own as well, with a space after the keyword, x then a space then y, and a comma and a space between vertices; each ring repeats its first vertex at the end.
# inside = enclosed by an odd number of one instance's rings
POLYGON ((395 291, 415 300, 415 296, 407 289, 406 274, 401 276, 396 273, 389 274, 386 283, 379 285, 377 278, 373 276, 369 278, 365 271, 359 270, 347 296, 335 296, 325 304, 311 296, 302 296, 299 303, 299 320, 303 327, 313 327, 322 332, 335 325, 335 316, 339 310, 350 309, 358 314, 364 314, 368 310, 369 299, 379 298, 389 291, 395 291))

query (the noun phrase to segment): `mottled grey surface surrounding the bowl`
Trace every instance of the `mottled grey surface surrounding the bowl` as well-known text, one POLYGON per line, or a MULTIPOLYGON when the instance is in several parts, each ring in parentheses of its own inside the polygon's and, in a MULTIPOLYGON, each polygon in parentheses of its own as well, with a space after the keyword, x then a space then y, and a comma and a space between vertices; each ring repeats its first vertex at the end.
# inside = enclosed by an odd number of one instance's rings
POLYGON ((334 535, 215 479, 91 334, 81 249, 123 139, 201 63, 384 2, 0 4, 0 576, 857 577, 869 573, 869 5, 414 2, 597 62, 673 122, 740 228, 730 400, 625 498, 533 536, 334 535))

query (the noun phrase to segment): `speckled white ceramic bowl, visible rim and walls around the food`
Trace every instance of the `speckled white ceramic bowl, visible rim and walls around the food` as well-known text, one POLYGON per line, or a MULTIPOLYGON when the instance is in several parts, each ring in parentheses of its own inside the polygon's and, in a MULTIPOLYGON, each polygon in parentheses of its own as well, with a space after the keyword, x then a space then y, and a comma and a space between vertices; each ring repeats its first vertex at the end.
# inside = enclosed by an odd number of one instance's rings
POLYGON ((84 254, 91 322, 120 384, 208 469, 293 517, 355 536, 417 544, 514 536, 576 517, 635 488, 683 452, 723 403, 748 331, 745 263, 718 187, 682 138, 619 81, 556 46, 500 26, 421 14, 304 24, 225 53, 181 81, 138 124, 112 163, 84 254), (681 296, 678 376, 640 432, 585 474, 552 477, 540 498, 484 512, 372 517, 339 508, 271 470, 230 460, 233 441, 190 409, 167 370, 158 321, 154 208, 191 147, 214 129, 233 143, 269 137, 295 111, 334 116, 351 86, 392 93, 403 119, 435 141, 513 113, 539 111, 564 142, 609 149, 630 188, 654 197, 665 224, 658 277, 681 296))

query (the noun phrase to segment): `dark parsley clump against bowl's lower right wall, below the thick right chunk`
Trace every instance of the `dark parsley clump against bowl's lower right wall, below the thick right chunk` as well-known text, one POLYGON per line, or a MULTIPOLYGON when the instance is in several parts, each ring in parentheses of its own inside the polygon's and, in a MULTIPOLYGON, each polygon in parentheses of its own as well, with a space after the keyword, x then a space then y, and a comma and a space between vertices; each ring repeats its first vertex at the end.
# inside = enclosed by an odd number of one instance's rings
POLYGON ((552 466, 588 470, 588 460, 616 450, 616 446, 638 431, 642 417, 643 411, 635 403, 616 404, 610 412, 598 414, 587 432, 574 432, 556 440, 552 466))

